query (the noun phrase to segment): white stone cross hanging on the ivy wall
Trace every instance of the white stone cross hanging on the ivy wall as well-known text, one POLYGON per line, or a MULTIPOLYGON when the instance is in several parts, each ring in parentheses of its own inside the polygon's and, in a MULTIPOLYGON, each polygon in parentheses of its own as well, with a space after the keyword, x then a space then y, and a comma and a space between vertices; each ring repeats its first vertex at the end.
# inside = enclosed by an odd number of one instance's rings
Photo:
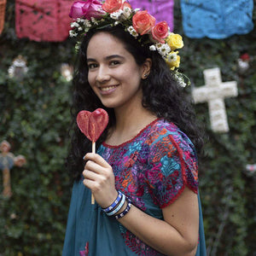
POLYGON ((212 131, 227 132, 229 125, 224 98, 237 96, 236 81, 222 82, 218 67, 204 70, 206 85, 192 90, 195 103, 208 102, 212 131))

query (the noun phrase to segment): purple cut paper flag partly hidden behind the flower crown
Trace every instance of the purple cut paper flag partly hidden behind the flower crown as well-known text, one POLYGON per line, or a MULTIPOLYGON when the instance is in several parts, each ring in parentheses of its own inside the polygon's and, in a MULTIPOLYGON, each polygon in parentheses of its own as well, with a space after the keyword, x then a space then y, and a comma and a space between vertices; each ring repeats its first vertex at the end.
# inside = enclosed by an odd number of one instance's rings
POLYGON ((133 9, 146 9, 150 15, 153 15, 156 22, 166 20, 173 31, 173 6, 174 0, 129 0, 133 9))

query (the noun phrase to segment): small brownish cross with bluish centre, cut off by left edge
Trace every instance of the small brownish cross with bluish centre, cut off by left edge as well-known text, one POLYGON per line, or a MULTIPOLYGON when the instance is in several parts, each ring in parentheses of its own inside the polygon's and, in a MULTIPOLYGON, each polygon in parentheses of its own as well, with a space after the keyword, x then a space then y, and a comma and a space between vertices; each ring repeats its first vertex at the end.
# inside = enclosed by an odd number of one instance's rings
POLYGON ((26 159, 23 155, 15 157, 14 154, 9 152, 10 144, 7 141, 3 141, 0 144, 0 169, 3 171, 3 196, 10 197, 12 195, 10 185, 10 169, 13 166, 23 166, 26 163, 26 159))

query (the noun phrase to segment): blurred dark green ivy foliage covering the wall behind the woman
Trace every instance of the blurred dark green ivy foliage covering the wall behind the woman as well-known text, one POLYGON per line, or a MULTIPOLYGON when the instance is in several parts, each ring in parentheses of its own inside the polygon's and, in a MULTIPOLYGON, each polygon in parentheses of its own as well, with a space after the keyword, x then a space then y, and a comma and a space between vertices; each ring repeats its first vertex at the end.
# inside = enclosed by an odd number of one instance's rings
MULTIPOLYGON (((254 0, 254 6, 256 6, 254 0)), ((191 39, 183 34, 179 1, 175 1, 174 32, 183 35, 181 68, 192 86, 204 84, 203 70, 220 67, 223 81, 236 80, 239 95, 225 100, 230 132, 213 133, 207 103, 195 105, 207 140, 200 160, 200 189, 208 255, 256 255, 256 33, 223 40, 191 39), (237 60, 250 55, 240 73, 237 60)), ((0 36, 0 142, 26 156, 27 164, 11 170, 13 195, 0 195, 0 255, 61 255, 72 183, 65 170, 70 122, 71 82, 61 64, 75 62, 74 42, 32 42, 15 35, 15 0, 6 7, 0 36), (10 79, 12 61, 26 58, 28 73, 10 79)), ((253 21, 255 24, 255 10, 253 21)), ((234 21, 235 22, 235 21, 234 21)), ((254 25, 255 26, 255 25, 254 25)), ((190 94, 191 87, 185 89, 190 94)), ((3 175, 0 175, 3 190, 3 175)))

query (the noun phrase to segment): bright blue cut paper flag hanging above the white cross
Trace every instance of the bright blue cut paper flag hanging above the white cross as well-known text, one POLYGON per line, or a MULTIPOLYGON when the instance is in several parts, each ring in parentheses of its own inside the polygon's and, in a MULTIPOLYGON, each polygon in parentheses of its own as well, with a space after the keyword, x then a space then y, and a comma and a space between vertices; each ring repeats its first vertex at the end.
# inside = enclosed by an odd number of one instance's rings
POLYGON ((189 38, 228 38, 253 30, 253 0, 181 0, 189 38))

